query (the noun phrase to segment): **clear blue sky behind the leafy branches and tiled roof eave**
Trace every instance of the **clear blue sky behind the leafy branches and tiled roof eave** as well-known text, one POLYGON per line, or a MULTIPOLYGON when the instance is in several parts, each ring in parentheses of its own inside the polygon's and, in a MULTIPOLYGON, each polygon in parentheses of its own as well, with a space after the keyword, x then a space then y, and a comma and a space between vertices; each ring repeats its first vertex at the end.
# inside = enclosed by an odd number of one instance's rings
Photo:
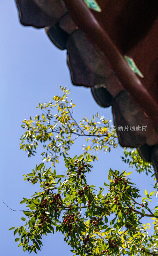
MULTIPOLYGON (((23 174, 31 172, 32 168, 42 161, 39 153, 35 157, 28 158, 27 154, 19 149, 19 138, 24 132, 21 128, 22 120, 38 114, 36 106, 40 102, 52 100, 56 94, 60 95, 60 85, 71 89, 71 98, 76 104, 75 118, 78 121, 84 115, 91 118, 92 114, 97 112, 100 116, 113 119, 111 108, 99 107, 93 100, 90 89, 72 85, 66 64, 66 52, 57 49, 51 43, 45 30, 24 27, 20 24, 15 1, 0 1, 0 24, 1 255, 21 256, 29 253, 24 253, 22 247, 17 248, 18 242, 14 242, 17 236, 14 237, 13 231, 8 229, 24 224, 20 219, 24 215, 23 212, 11 211, 3 201, 14 210, 25 209, 25 205, 19 202, 22 197, 30 198, 35 191, 38 191, 38 185, 33 187, 26 181, 23 182, 23 174)), ((82 154, 82 144, 82 140, 76 142, 70 156, 82 154)), ((128 169, 128 165, 122 163, 120 158, 122 151, 119 147, 111 153, 98 155, 99 161, 93 163, 94 168, 88 177, 90 185, 104 186, 109 166, 114 170, 132 171, 131 168, 128 169)), ((50 167, 49 164, 47 167, 50 167)), ((62 160, 56 169, 58 173, 65 171, 62 160)), ((154 190, 153 178, 134 170, 130 178, 140 189, 142 197, 145 196, 146 188, 149 193, 154 190)), ((156 204, 155 196, 153 199, 156 204)), ((146 222, 151 223, 149 219, 146 222)), ((43 248, 38 254, 73 255, 63 238, 59 233, 44 236, 43 248)))

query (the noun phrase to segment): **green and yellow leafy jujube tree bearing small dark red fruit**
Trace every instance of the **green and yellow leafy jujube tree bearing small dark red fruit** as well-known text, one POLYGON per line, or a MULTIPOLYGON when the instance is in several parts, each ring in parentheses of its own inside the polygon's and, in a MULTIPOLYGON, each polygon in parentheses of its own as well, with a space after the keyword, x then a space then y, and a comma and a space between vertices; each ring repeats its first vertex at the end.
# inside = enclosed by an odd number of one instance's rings
MULTIPOLYGON (((15 241, 24 251, 36 252, 41 248, 42 236, 55 230, 62 232, 74 255, 158 255, 158 207, 151 210, 148 206, 154 192, 157 196, 157 183, 155 191, 148 194, 145 190, 146 197, 140 199, 139 189, 128 177, 131 172, 108 168, 104 188, 97 192, 94 185, 88 185, 86 178, 93 167, 90 163, 97 159, 95 152, 116 148, 117 134, 110 131, 110 121, 98 114, 92 120, 85 116, 77 123, 72 111, 75 104, 68 101, 68 90, 61 89, 64 95, 54 96, 54 103, 39 104, 41 116, 23 121, 21 149, 31 156, 39 142, 43 143, 43 161, 52 163, 54 168, 62 155, 65 175, 56 175, 44 163, 24 175, 32 185, 39 183, 39 191, 20 202, 26 204, 28 211, 21 218, 25 221, 23 226, 10 228, 15 229, 14 235, 18 233, 15 241), (54 115, 52 108, 57 109, 54 115), (78 137, 85 138, 88 146, 83 145, 81 156, 71 158, 68 150, 78 137), (141 223, 145 216, 154 220, 152 236, 146 231, 151 225, 141 223)), ((154 176, 152 164, 144 162, 136 150, 125 148, 122 160, 138 172, 151 172, 154 176)))

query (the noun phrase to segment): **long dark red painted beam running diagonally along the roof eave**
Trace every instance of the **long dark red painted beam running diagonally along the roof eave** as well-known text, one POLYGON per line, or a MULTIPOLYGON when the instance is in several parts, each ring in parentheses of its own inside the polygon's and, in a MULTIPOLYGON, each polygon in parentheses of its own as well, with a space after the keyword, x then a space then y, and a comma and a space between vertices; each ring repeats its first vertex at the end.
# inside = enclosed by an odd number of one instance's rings
POLYGON ((72 20, 87 36, 90 37, 111 64, 119 81, 136 100, 141 109, 153 121, 158 133, 158 104, 147 92, 139 78, 133 73, 126 60, 120 54, 115 44, 100 26, 88 7, 82 0, 63 0, 72 20))

